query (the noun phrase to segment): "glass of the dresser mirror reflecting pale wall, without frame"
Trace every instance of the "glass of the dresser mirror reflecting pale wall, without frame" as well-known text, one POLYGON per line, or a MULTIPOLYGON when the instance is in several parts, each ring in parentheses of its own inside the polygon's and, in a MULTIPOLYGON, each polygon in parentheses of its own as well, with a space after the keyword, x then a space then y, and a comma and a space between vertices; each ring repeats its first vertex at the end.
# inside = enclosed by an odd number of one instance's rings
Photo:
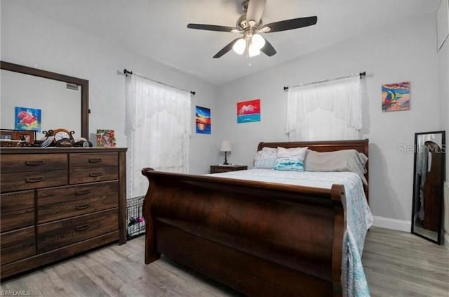
MULTIPOLYGON (((67 128, 81 137, 81 88, 63 81, 1 70, 1 128, 15 129, 15 107, 41 110, 41 131, 67 128)), ((23 120, 23 119, 22 119, 23 120)), ((24 126, 26 123, 24 124, 24 126)))

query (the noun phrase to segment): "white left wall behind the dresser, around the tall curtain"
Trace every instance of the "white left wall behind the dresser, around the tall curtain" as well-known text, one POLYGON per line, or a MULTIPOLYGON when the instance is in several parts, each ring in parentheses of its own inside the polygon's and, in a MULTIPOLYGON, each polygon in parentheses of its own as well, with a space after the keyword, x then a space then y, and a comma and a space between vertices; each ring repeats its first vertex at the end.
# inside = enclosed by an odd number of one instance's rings
POLYGON ((216 161, 217 87, 212 84, 135 55, 121 44, 110 44, 102 37, 36 15, 15 1, 1 2, 1 60, 88 79, 90 140, 95 142, 97 129, 111 128, 116 131, 119 147, 127 145, 125 79, 119 73, 124 68, 196 91, 192 97, 190 171, 207 173, 208 166, 216 161), (194 133, 195 105, 211 109, 213 134, 194 133))

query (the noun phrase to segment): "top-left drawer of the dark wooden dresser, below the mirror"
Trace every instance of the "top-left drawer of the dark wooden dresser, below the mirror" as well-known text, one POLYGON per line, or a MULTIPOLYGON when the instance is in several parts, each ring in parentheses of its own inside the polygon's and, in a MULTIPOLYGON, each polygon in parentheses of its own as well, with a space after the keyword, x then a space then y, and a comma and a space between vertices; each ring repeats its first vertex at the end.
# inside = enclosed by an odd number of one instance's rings
POLYGON ((67 154, 2 154, 1 173, 67 170, 67 154))

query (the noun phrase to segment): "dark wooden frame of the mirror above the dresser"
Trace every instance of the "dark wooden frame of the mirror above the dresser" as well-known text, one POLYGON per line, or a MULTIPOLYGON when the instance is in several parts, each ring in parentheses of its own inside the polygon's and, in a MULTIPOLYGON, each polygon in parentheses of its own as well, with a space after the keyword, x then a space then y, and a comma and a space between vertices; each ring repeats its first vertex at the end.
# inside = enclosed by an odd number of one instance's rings
MULTIPOLYGON (((69 77, 68 75, 40 70, 37 68, 27 67, 23 65, 13 64, 10 62, 0 61, 0 69, 22 74, 33 75, 34 77, 43 77, 45 79, 53 79, 69 84, 81 86, 81 137, 89 139, 89 81, 79 79, 77 77, 69 77)), ((54 127, 60 128, 60 127, 54 127)))

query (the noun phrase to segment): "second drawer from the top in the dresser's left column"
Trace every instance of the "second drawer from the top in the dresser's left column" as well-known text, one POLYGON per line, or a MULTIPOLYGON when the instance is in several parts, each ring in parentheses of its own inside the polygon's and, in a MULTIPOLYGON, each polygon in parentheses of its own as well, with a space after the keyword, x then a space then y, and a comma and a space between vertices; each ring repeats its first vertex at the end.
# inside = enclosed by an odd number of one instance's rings
POLYGON ((67 170, 1 173, 1 192, 67 185, 67 170))

